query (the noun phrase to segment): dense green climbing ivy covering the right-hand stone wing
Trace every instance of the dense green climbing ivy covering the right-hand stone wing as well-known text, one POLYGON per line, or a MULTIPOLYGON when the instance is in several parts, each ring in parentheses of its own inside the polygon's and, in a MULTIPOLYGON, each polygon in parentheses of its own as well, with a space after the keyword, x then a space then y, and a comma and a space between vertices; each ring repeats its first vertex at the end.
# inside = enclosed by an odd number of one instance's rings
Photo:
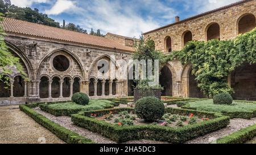
POLYGON ((164 61, 180 60, 192 64, 198 87, 212 98, 218 93, 233 93, 229 74, 238 66, 256 63, 256 28, 232 40, 191 41, 164 61))

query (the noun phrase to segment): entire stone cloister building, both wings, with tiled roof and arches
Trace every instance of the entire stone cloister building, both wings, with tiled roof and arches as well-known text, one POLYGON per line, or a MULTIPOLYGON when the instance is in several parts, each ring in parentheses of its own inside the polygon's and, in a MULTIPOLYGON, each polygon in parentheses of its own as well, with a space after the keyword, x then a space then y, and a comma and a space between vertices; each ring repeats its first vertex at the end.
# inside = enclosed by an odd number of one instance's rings
MULTIPOLYGON (((233 39, 256 26, 256 1, 246 0, 220 9, 180 20, 144 33, 155 41, 156 49, 166 55, 180 50, 191 40, 233 39)), ((73 93, 83 92, 92 98, 132 95, 132 81, 114 74, 98 75, 98 70, 115 60, 128 61, 134 52, 133 38, 108 33, 105 37, 86 35, 5 18, 6 44, 27 74, 26 79, 16 72, 10 85, 0 81, 0 105, 24 102, 70 100, 73 93), (99 65, 100 64, 100 65, 99 65), (4 89, 8 87, 8 89, 4 89)), ((204 98, 191 73, 191 64, 171 61, 161 68, 160 84, 163 95, 204 98)), ((111 72, 112 73, 112 72, 111 72)), ((228 78, 235 99, 256 100, 256 64, 245 64, 228 78)))

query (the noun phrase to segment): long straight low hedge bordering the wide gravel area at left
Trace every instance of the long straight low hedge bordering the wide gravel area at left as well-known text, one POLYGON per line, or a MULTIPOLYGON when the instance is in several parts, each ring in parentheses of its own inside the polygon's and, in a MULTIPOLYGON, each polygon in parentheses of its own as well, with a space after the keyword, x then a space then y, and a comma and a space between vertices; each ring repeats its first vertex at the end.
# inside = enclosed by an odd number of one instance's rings
POLYGON ((35 110, 30 107, 36 107, 37 104, 20 105, 19 108, 21 111, 26 113, 37 123, 41 124, 43 127, 47 128, 61 140, 65 141, 68 144, 92 144, 94 143, 90 139, 86 139, 83 136, 80 136, 78 133, 73 132, 67 128, 61 127, 59 124, 52 122, 47 119, 45 116, 38 114, 35 110))

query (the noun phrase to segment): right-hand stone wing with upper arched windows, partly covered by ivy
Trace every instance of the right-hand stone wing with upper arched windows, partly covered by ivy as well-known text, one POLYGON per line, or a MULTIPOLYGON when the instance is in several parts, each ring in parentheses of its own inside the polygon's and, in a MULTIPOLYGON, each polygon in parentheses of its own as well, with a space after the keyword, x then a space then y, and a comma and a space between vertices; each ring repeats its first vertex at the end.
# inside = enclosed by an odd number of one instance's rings
MULTIPOLYGON (((255 16, 256 1, 241 1, 184 20, 177 16, 175 23, 146 32, 144 36, 153 39, 155 48, 168 55, 182 49, 191 40, 234 39, 256 27, 255 16)), ((160 83, 165 87, 164 94, 204 97, 191 74, 191 67, 191 64, 182 65, 179 61, 168 62, 160 77, 160 83)), ((235 91, 235 99, 256 100, 255 77, 255 64, 245 65, 230 75, 228 82, 235 91)))

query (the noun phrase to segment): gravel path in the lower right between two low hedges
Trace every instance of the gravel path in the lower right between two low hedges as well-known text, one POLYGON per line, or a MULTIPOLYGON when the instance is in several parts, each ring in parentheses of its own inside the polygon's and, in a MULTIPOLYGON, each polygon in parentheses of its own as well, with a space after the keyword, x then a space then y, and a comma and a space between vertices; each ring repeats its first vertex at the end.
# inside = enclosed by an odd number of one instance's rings
POLYGON ((230 124, 228 127, 224 129, 220 129, 218 131, 209 133, 205 136, 198 137, 196 139, 187 141, 187 144, 208 144, 208 143, 214 143, 217 139, 221 137, 225 137, 230 135, 233 132, 236 132, 242 128, 249 127, 250 125, 256 124, 256 118, 253 118, 251 120, 247 119, 231 119, 230 124))

